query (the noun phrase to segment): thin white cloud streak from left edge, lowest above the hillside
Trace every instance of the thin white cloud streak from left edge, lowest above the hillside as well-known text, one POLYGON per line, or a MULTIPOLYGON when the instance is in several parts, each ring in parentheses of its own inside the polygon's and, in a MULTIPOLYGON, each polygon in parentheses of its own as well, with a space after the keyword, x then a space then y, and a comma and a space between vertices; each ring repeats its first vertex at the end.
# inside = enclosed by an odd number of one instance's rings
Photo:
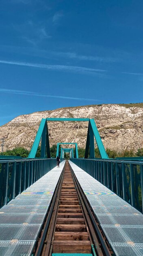
POLYGON ((99 99, 89 99, 89 98, 76 98, 76 97, 67 97, 63 95, 48 95, 48 94, 41 94, 38 92, 29 92, 29 91, 21 91, 21 90, 11 90, 11 89, 4 89, 0 88, 0 92, 10 93, 10 94, 20 94, 20 95, 29 95, 29 96, 37 96, 37 97, 48 97, 48 98, 57 98, 57 99, 72 99, 78 101, 101 101, 99 99))

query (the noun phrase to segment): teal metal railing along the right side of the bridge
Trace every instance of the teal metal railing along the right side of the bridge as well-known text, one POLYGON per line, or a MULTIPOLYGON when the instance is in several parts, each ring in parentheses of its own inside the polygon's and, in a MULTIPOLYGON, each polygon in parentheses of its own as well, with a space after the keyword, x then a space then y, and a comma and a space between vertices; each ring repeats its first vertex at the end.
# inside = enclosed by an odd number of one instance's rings
POLYGON ((143 213, 143 161, 70 160, 143 213))

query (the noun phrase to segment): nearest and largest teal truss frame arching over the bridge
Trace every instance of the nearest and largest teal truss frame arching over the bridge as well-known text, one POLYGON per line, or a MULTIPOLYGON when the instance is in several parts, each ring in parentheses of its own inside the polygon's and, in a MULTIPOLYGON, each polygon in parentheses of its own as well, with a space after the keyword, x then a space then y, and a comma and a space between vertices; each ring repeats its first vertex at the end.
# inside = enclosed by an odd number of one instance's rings
POLYGON ((41 140, 41 158, 50 158, 50 144, 49 144, 49 135, 48 135, 48 121, 88 121, 88 131, 87 131, 87 142, 85 148, 85 158, 94 159, 95 158, 95 147, 94 147, 94 138, 98 146, 102 159, 108 159, 108 155, 102 143, 98 128, 95 124, 94 119, 90 118, 43 118, 39 126, 35 141, 32 145, 31 151, 28 155, 28 158, 36 158, 37 149, 41 140), (47 153, 47 156, 46 156, 47 153))

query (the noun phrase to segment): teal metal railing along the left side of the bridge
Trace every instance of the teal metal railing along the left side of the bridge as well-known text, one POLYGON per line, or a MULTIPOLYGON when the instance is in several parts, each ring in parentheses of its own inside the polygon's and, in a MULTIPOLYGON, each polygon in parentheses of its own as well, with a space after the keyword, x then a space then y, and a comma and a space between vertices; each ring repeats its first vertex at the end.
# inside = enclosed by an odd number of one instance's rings
POLYGON ((14 199, 55 166, 56 158, 0 160, 0 207, 14 199))

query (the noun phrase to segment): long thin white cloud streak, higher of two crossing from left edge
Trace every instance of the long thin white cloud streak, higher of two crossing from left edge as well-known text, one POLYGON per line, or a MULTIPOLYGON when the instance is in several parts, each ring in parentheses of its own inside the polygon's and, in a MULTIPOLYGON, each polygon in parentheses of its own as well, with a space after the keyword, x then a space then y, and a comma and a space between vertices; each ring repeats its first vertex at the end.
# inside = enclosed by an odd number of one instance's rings
POLYGON ((0 63, 9 64, 9 65, 18 65, 18 66, 27 66, 27 67, 38 67, 46 70, 56 70, 56 71, 69 71, 75 73, 104 73, 106 70, 94 69, 90 67, 78 67, 78 66, 67 66, 67 65, 47 65, 39 63, 28 63, 28 62, 19 62, 19 61, 3 61, 0 60, 0 63))

